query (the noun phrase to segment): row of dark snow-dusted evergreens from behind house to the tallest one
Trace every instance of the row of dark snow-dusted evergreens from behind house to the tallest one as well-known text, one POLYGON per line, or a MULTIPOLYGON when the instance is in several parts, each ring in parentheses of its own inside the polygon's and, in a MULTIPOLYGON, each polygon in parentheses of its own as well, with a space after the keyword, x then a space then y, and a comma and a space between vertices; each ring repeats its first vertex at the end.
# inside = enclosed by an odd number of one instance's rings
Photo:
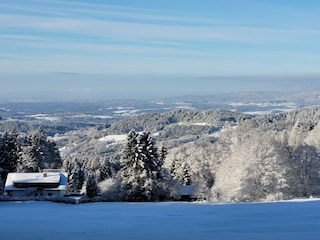
MULTIPOLYGON (((9 172, 39 172, 43 169, 62 169, 68 173, 68 191, 85 192, 94 197, 101 193, 99 185, 113 181, 112 189, 104 196, 117 201, 156 201, 174 199, 176 170, 163 167, 167 150, 156 147, 150 132, 130 131, 121 159, 108 161, 86 159, 77 154, 62 159, 53 140, 41 129, 32 131, 23 139, 14 130, 5 132, 0 141, 1 187, 9 172), (110 196, 108 196, 110 195, 110 196)), ((188 175, 186 169, 183 170, 188 175)), ((181 175, 181 174, 180 174, 181 175)), ((181 178, 181 180, 183 177, 181 178)), ((191 182, 183 182, 191 184, 191 182)))

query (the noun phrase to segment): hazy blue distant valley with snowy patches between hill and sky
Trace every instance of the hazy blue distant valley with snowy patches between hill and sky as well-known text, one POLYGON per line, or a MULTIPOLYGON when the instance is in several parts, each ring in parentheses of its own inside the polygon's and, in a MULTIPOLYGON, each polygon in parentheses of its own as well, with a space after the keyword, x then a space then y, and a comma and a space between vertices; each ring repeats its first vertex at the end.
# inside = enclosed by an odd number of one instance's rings
POLYGON ((318 105, 320 91, 235 92, 150 100, 0 102, 0 131, 13 128, 27 131, 41 127, 46 134, 53 136, 56 133, 103 126, 143 113, 164 113, 174 109, 224 109, 263 115, 318 105))

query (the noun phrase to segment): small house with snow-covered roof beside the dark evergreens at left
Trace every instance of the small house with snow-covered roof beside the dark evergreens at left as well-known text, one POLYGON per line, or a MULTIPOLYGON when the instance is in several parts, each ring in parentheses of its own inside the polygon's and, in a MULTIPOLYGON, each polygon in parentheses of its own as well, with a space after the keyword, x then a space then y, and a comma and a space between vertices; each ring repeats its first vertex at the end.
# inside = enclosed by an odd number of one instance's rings
POLYGON ((12 197, 63 197, 67 187, 63 172, 9 173, 4 190, 12 197))

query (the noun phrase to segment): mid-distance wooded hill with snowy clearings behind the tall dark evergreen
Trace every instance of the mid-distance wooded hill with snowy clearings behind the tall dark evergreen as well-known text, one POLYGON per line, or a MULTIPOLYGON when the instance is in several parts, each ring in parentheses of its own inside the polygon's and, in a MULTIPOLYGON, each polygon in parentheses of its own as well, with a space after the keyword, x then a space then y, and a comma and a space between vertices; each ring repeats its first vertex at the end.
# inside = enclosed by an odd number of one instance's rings
POLYGON ((131 130, 150 132, 158 145, 164 144, 167 148, 173 148, 199 138, 212 138, 226 126, 236 126, 239 121, 252 117, 226 110, 179 109, 161 114, 141 114, 106 127, 56 135, 54 139, 63 147, 63 153, 109 155, 112 152, 118 155, 114 149, 123 144, 131 130))

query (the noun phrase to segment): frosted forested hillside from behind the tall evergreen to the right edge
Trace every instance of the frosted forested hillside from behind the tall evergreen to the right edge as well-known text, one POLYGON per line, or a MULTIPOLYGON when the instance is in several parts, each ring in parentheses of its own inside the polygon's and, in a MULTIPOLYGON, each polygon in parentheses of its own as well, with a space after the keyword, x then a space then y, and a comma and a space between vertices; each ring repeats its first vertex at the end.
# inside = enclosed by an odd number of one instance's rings
POLYGON ((55 140, 63 158, 82 159, 98 170, 117 166, 130 130, 149 131, 159 148, 168 149, 164 167, 184 166, 175 169, 175 178, 183 182, 188 172, 199 196, 224 202, 277 200, 320 195, 319 120, 320 108, 257 117, 174 110, 55 140))

